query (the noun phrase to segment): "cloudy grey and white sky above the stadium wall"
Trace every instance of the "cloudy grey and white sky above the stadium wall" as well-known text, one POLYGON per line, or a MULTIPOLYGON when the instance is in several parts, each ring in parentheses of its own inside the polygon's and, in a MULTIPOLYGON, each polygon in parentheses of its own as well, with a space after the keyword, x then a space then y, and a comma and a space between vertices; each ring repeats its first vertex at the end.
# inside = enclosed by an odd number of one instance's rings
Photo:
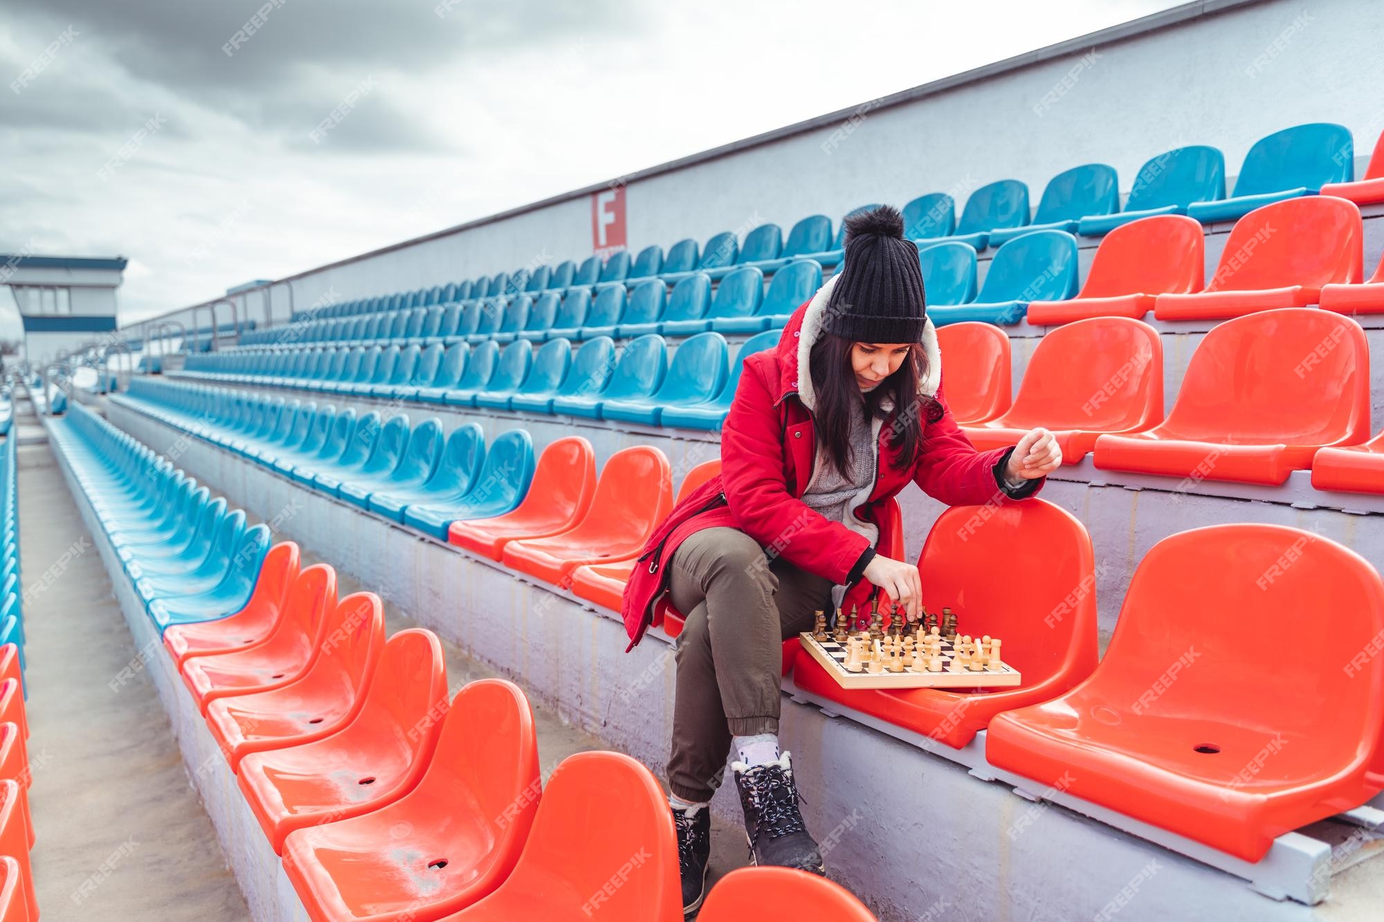
POLYGON ((0 252, 130 323, 1172 6, 7 0, 0 252))

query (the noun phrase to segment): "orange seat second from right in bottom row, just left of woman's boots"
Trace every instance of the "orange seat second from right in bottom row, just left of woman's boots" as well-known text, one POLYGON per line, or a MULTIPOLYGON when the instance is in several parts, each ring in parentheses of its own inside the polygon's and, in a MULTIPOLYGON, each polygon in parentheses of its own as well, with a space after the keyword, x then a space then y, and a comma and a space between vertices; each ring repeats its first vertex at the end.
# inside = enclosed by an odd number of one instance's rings
POLYGON ((513 872, 446 918, 682 922, 677 833, 663 788, 630 756, 569 756, 548 779, 513 872))

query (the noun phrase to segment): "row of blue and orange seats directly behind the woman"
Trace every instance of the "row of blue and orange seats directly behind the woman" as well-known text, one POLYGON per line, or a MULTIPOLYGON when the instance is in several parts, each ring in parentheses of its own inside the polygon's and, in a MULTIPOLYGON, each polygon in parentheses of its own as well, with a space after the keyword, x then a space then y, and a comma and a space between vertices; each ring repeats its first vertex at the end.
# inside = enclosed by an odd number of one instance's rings
MULTIPOLYGON (((527 341, 518 341, 498 359, 494 343, 482 343, 465 368, 458 365, 469 346, 455 345, 450 347, 454 353, 444 353, 435 343, 426 350, 417 345, 404 350, 372 346, 345 356, 340 350, 288 353, 273 357, 286 367, 286 375, 206 377, 349 397, 718 428, 735 395, 740 359, 772 347, 776 336, 768 331, 749 339, 729 375, 725 342, 718 334, 699 334, 682 343, 667 368, 659 336, 641 338, 626 349, 608 379, 587 374, 610 368, 613 345, 605 338, 585 343, 570 363, 563 339, 545 343, 537 356, 530 356, 527 341), (588 360, 592 352, 597 359, 588 360), (455 361, 448 361, 448 354, 455 361), (329 378, 338 365, 349 372, 357 357, 363 370, 357 377, 372 370, 379 383, 317 377, 317 368, 327 368, 329 378), (432 377, 435 368, 447 374, 432 377), (459 377, 457 388, 447 385, 454 377, 459 377), (574 396, 579 393, 594 396, 574 396), (716 396, 707 400, 709 395, 716 396)), ((1013 400, 1010 342, 1002 329, 954 324, 938 331, 938 343, 948 356, 948 403, 981 450, 1014 444, 1028 429, 1044 426, 1057 436, 1067 464, 1091 454, 1100 469, 1262 485, 1282 485, 1293 471, 1311 469, 1320 490, 1384 493, 1384 433, 1370 439, 1369 343, 1349 317, 1283 307, 1218 324, 1192 354, 1167 415, 1163 342, 1139 320, 1093 317, 1050 331, 1038 341, 1013 400)), ((241 357, 228 359, 226 364, 234 367, 241 357)), ((136 379, 131 395, 167 401, 180 399, 174 395, 190 400, 199 393, 206 407, 224 397, 224 392, 176 388, 136 379)), ((249 400, 239 426, 273 433, 277 425, 286 444, 307 437, 303 428, 311 426, 317 413, 313 403, 284 404, 244 395, 235 400, 249 400), (307 422, 300 421, 304 414, 307 422)), ((317 413, 318 425, 329 428, 332 414, 332 408, 317 413)), ((338 451, 342 440, 307 439, 306 447, 325 457, 338 451)))

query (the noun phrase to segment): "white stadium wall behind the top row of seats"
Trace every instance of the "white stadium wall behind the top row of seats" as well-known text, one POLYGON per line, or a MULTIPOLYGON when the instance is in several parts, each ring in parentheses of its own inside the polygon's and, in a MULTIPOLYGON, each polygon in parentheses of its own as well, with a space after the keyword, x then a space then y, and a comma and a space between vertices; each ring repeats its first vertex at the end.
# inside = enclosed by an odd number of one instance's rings
MULTIPOLYGON (((786 233, 805 215, 835 222, 865 202, 902 205, 929 191, 952 192, 960 208, 972 188, 1002 177, 1027 181, 1037 205, 1049 177, 1091 161, 1113 165, 1128 192, 1145 161, 1182 144, 1219 147, 1233 181, 1257 138, 1301 122, 1349 127, 1359 173, 1384 129, 1381 36, 1377 0, 1185 4, 632 174, 628 248, 704 242, 722 230, 743 237, 760 222, 786 233)), ((274 317, 324 295, 364 298, 581 259, 592 252, 591 194, 603 188, 278 281, 274 317)), ((1367 242, 1366 259, 1378 259, 1377 245, 1367 242)), ((242 317, 263 323, 263 291, 237 299, 242 317)))

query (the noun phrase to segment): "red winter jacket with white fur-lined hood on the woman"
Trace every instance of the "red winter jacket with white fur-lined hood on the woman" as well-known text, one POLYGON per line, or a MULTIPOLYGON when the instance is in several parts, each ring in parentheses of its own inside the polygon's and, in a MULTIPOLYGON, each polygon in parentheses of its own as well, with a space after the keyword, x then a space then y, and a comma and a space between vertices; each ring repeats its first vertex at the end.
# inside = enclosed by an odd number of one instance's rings
MULTIPOLYGON (((688 494, 649 537, 644 555, 624 587, 621 615, 630 633, 630 648, 644 631, 663 620, 660 599, 667 593, 667 565, 685 537, 700 529, 729 526, 757 540, 771 554, 782 554, 790 563, 825 576, 837 584, 850 584, 841 602, 865 609, 871 586, 853 573, 862 554, 871 547, 869 533, 877 529, 876 551, 900 559, 902 548, 891 547, 890 518, 897 505, 886 503, 909 480, 929 496, 948 505, 983 505, 1013 501, 1035 494, 1042 480, 1030 482, 1010 494, 996 475, 996 465, 1013 449, 976 451, 956 426, 941 393, 941 353, 931 321, 923 328, 927 378, 919 392, 941 401, 944 414, 937 422, 922 417, 923 449, 912 465, 901 464, 900 453, 890 446, 890 422, 876 419, 879 462, 875 486, 868 500, 854 507, 861 519, 857 529, 847 527, 810 509, 799 497, 812 476, 817 436, 812 429, 815 406, 811 375, 805 368, 812 343, 821 334, 822 317, 835 277, 783 327, 779 345, 745 360, 735 400, 721 431, 721 473, 688 494), (800 370, 801 374, 800 374, 800 370), (872 527, 873 526, 873 527, 872 527)), ((912 410, 918 413, 918 408, 912 410)))

